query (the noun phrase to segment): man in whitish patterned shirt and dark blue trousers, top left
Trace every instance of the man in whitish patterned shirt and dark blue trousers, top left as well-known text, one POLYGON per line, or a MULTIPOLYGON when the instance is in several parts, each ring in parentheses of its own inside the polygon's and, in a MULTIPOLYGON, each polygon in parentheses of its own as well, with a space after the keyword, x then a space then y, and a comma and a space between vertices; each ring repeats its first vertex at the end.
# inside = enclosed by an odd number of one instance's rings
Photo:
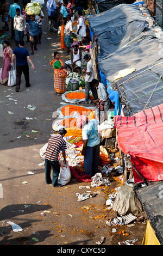
POLYGON ((24 15, 20 14, 20 9, 16 8, 16 15, 14 17, 14 29, 15 29, 15 44, 18 47, 20 41, 24 39, 24 33, 26 31, 26 19, 24 15))

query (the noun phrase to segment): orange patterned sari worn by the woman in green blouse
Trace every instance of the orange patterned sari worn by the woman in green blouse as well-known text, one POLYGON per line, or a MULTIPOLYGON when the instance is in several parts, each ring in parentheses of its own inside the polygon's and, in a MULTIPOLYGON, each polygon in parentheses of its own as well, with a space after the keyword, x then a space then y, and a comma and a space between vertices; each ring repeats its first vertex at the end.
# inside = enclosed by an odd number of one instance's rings
MULTIPOLYGON (((61 66, 64 66, 64 63, 59 59, 61 66)), ((54 59, 50 63, 54 68, 54 59)), ((65 80, 67 77, 66 69, 55 69, 54 68, 54 90, 56 93, 65 93, 66 85, 65 80)))

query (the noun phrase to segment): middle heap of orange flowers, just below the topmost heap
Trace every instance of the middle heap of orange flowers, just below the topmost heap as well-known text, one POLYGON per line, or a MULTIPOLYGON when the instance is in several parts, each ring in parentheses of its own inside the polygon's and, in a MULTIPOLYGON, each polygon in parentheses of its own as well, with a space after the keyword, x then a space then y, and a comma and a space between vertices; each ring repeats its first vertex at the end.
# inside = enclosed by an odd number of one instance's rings
POLYGON ((65 117, 66 115, 73 115, 74 112, 78 112, 80 115, 84 115, 84 114, 87 115, 87 114, 90 114, 92 110, 87 109, 85 107, 81 107, 81 106, 68 105, 68 106, 62 107, 61 111, 65 117))

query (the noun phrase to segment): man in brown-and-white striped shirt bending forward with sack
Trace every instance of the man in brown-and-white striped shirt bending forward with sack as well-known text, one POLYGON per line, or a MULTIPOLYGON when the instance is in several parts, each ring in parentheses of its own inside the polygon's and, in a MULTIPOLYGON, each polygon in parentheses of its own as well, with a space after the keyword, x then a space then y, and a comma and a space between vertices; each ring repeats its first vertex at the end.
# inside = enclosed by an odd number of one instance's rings
POLYGON ((45 180, 47 184, 52 183, 53 187, 61 186, 58 184, 58 176, 60 173, 59 164, 59 153, 62 151, 62 156, 64 157, 64 163, 66 163, 66 142, 63 137, 66 134, 66 130, 60 129, 58 135, 52 136, 48 140, 48 146, 45 153, 45 180), (51 179, 51 168, 53 170, 51 179))

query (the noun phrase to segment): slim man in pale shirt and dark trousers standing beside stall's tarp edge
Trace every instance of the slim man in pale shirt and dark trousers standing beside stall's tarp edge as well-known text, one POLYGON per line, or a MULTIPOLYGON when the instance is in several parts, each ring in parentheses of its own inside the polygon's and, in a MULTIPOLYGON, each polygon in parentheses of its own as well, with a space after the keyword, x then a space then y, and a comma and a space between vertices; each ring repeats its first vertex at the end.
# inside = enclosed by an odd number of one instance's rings
POLYGON ((88 54, 85 54, 84 59, 87 62, 86 69, 83 69, 83 73, 85 73, 85 103, 89 103, 90 99, 90 89, 92 91, 94 100, 98 99, 97 90, 94 86, 92 86, 92 80, 94 77, 92 62, 88 54))

